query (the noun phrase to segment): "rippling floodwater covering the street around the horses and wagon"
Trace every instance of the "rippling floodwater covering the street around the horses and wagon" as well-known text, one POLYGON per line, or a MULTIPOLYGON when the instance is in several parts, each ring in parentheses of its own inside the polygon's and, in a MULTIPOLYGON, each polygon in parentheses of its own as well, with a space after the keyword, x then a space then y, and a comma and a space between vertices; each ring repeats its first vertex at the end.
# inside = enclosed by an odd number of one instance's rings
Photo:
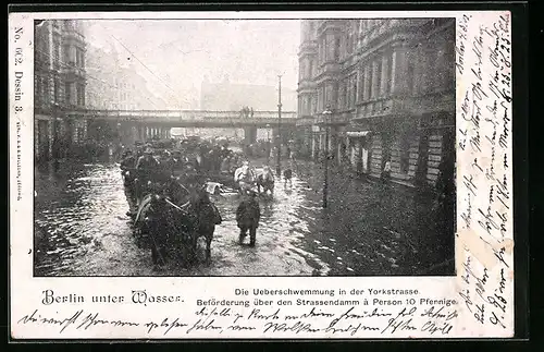
MULTIPOLYGON (((36 276, 384 276, 454 275, 454 234, 433 201, 413 190, 295 162, 293 185, 260 198, 257 245, 239 245, 235 194, 213 196, 223 217, 211 263, 157 269, 136 245, 119 165, 63 163, 36 170, 36 276), (452 232, 452 231, 449 231, 452 232)), ((246 240, 248 242, 248 239, 246 240)), ((203 246, 201 243, 200 247, 203 246)))

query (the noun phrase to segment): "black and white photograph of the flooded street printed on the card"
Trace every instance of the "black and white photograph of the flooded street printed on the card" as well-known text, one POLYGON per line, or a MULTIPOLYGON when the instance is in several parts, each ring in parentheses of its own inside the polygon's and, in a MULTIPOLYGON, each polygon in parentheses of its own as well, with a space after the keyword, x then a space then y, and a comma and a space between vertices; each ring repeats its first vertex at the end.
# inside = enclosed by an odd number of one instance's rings
POLYGON ((34 277, 455 276, 456 131, 455 17, 35 20, 34 277))

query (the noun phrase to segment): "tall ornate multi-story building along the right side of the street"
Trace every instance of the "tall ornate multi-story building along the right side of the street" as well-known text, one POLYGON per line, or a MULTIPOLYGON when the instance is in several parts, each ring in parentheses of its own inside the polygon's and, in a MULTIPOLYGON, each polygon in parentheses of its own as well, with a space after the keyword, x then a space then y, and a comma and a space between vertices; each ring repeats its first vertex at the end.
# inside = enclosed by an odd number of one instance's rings
POLYGON ((434 185, 455 163, 455 20, 308 20, 299 51, 299 138, 313 158, 434 185), (332 113, 323 112, 330 110, 332 113))

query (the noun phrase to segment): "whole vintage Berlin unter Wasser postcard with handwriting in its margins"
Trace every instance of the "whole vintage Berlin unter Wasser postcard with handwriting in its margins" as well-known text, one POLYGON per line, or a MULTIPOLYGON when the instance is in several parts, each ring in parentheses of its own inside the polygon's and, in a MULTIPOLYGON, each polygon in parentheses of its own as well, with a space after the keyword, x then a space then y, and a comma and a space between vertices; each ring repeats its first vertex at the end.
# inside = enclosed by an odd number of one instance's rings
POLYGON ((508 11, 12 12, 25 339, 514 336, 508 11))

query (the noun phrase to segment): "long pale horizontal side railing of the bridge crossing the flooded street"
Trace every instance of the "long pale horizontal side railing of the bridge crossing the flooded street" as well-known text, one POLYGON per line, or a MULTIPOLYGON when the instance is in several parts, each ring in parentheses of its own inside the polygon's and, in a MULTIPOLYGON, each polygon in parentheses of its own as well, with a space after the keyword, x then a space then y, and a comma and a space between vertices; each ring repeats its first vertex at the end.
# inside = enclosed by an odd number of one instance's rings
MULTIPOLYGON (((81 112, 73 112, 79 114, 81 112)), ((254 111, 254 114, 243 114, 240 111, 212 110, 86 110, 85 114, 97 118, 134 118, 164 120, 207 120, 207 119, 277 119, 277 111, 254 111)), ((296 119, 295 111, 282 112, 282 119, 296 119)))

